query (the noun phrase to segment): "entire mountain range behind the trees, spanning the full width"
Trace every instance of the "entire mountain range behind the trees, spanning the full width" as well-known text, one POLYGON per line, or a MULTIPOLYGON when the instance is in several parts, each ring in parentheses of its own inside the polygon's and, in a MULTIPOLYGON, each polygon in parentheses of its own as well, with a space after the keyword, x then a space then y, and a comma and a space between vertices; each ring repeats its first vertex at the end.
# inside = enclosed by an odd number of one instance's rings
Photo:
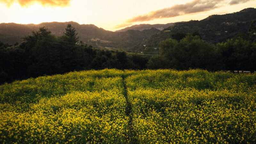
POLYGON ((45 22, 41 24, 0 24, 0 41, 14 44, 23 41, 23 37, 38 31, 40 27, 48 28, 52 34, 61 36, 68 24, 78 33, 79 40, 93 47, 111 47, 123 50, 135 50, 147 45, 157 47, 161 40, 171 38, 172 34, 193 33, 197 31, 202 39, 218 43, 235 36, 239 32, 247 32, 252 20, 256 19, 256 9, 247 8, 240 12, 224 15, 211 15, 204 20, 191 20, 168 24, 140 24, 118 31, 108 31, 92 24, 78 24, 76 22, 45 22))

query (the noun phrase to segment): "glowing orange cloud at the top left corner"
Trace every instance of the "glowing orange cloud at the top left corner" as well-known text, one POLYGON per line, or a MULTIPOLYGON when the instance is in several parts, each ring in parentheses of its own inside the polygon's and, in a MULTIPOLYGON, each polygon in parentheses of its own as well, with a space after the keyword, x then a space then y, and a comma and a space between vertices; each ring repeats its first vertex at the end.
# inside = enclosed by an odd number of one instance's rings
POLYGON ((71 0, 0 0, 0 3, 11 6, 14 3, 20 4, 22 7, 28 7, 33 4, 40 4, 51 7, 65 7, 69 6, 71 0))

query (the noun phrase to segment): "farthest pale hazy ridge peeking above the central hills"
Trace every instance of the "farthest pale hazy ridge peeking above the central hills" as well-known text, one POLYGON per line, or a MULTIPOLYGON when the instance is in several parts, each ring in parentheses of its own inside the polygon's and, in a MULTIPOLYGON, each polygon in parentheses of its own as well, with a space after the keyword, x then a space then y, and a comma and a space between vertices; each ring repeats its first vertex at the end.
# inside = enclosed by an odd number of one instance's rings
POLYGON ((125 32, 127 30, 139 30, 139 31, 142 31, 142 30, 145 30, 145 29, 150 29, 150 28, 156 28, 156 29, 159 29, 159 30, 164 30, 164 28, 168 28, 170 26, 173 26, 175 23, 167 23, 167 24, 154 24, 154 25, 151 25, 151 24, 140 24, 140 25, 133 25, 131 27, 127 27, 127 28, 124 28, 124 29, 120 29, 120 30, 117 30, 116 32, 125 32))

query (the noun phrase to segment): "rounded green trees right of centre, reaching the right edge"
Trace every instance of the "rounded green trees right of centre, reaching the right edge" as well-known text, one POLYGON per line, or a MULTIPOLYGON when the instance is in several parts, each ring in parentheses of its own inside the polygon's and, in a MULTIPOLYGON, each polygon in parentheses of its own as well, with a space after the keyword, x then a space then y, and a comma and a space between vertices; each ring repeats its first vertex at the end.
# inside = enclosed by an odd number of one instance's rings
POLYGON ((203 41, 198 35, 172 37, 159 43, 159 52, 160 55, 149 59, 147 68, 256 70, 256 43, 245 33, 216 45, 203 41))

